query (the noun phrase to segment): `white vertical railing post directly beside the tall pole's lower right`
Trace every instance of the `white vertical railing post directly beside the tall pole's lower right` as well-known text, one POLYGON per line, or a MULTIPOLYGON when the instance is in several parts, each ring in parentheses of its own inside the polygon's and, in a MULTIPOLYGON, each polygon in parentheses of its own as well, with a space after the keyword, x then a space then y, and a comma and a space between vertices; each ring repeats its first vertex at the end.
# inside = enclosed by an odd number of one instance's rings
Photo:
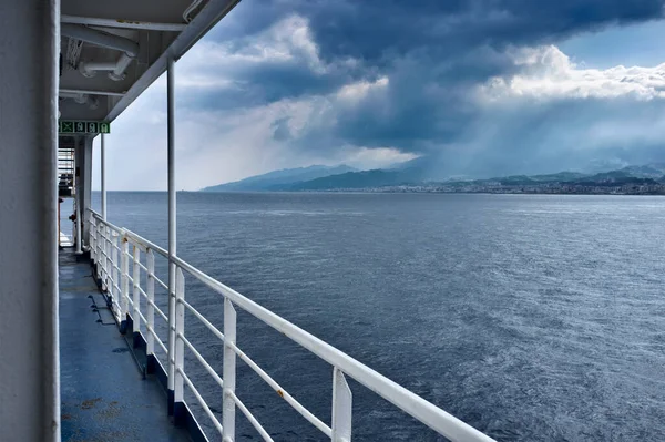
POLYGON ((183 270, 178 267, 175 275, 175 380, 173 382, 173 420, 176 425, 185 423, 184 415, 184 379, 185 370, 185 277, 183 270))

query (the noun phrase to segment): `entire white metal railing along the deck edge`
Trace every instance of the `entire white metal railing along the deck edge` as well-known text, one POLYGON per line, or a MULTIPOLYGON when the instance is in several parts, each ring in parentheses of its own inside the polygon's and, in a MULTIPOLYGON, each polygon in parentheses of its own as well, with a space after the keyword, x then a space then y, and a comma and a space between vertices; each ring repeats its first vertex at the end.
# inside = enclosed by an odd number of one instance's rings
POLYGON ((213 279, 177 257, 173 257, 170 260, 176 268, 175 287, 174 290, 170 291, 167 285, 156 277, 154 266, 155 254, 168 259, 167 250, 127 229, 105 222, 102 219, 101 215, 94 210, 90 210, 89 222, 91 257, 96 264, 98 278, 102 281, 102 288, 111 296, 115 318, 121 321, 129 315, 136 325, 134 330, 140 330, 140 325, 144 325, 146 330, 146 353, 149 356, 154 354, 154 346, 157 343, 167 356, 170 366, 167 373, 173 373, 174 377, 173 383, 170 382, 170 384, 173 384, 175 402, 185 402, 183 389, 186 384, 211 419, 214 426, 222 434, 224 442, 232 442, 235 440, 236 409, 241 410, 249 423, 252 423, 260 434, 263 440, 273 440, 235 393, 236 359, 241 359, 252 368, 252 370, 254 370, 270 388, 291 405, 294 410, 334 442, 349 442, 351 440, 352 394, 347 384, 346 376, 355 379, 357 382, 367 387, 388 402, 451 441, 492 441, 488 435, 397 384, 371 368, 358 362, 327 342, 324 342, 286 319, 213 279), (132 245, 131 254, 130 245, 132 245), (117 253, 120 253, 120 261, 117 253), (141 254, 146 255, 145 266, 141 264, 141 254), (131 276, 130 260, 133 263, 131 276), (145 289, 141 287, 142 271, 146 275, 145 289), (206 287, 224 297, 223 331, 213 326, 198 310, 185 300, 185 274, 188 277, 203 282, 206 287), (130 280, 132 281, 132 290, 130 290, 130 280), (171 296, 175 298, 174 317, 165 315, 155 304, 155 282, 160 284, 167 290, 167 294, 171 294, 171 296), (145 315, 141 311, 142 297, 146 300, 145 315), (132 306, 131 311, 130 304, 132 306), (330 425, 326 424, 300 404, 294 397, 284 390, 277 381, 236 346, 235 307, 245 310, 332 366, 332 415, 330 425), (198 352, 195 346, 187 339, 184 321, 185 311, 190 311, 224 343, 222 377, 219 377, 213 367, 198 352), (164 346, 162 339, 155 331, 155 312, 167 322, 168 330, 174 332, 173 339, 175 342, 168 342, 168 346, 164 346), (192 379, 187 376, 184 368, 185 348, 191 351, 198 362, 201 362, 205 371, 215 380, 219 388, 223 389, 222 422, 219 422, 212 412, 208 404, 192 382, 192 379))

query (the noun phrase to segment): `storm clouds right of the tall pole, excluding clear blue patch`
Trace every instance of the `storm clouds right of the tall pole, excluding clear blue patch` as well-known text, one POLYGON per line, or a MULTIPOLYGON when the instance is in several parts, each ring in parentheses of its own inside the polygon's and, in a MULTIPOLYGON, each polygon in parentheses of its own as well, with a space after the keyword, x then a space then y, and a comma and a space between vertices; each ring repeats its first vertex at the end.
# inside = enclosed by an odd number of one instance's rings
POLYGON ((663 11, 661 0, 244 0, 177 64, 183 187, 416 156, 441 177, 665 161, 665 66, 594 70, 557 48, 663 11), (243 166, 215 173, 229 160, 243 166))

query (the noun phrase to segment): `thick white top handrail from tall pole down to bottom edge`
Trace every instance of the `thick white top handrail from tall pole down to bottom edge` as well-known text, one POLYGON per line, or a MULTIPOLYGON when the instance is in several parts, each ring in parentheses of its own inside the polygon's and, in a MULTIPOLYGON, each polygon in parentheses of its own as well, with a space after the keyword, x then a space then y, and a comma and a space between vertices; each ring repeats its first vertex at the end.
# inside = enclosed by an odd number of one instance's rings
POLYGON ((213 290, 228 298, 243 310, 273 327, 275 330, 286 335, 288 338, 314 354, 318 356, 329 364, 337 367, 362 386, 367 387, 381 398, 386 399, 388 402, 392 403, 407 414, 416 418, 438 433, 451 439, 452 441, 493 441, 491 438, 475 430, 473 426, 468 425, 452 414, 441 410, 433 403, 424 400, 418 394, 401 387, 397 382, 380 374, 376 370, 372 370, 364 363, 360 363, 356 359, 336 349, 329 343, 275 315, 270 310, 259 306, 224 284, 213 279, 181 258, 173 257, 173 261, 183 270, 187 271, 190 275, 194 276, 213 290))

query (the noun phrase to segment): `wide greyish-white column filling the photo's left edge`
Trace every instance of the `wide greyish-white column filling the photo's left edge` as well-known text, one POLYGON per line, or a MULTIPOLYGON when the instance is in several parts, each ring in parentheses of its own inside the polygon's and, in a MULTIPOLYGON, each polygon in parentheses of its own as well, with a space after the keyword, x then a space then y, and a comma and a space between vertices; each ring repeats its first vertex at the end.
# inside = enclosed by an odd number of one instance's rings
POLYGON ((0 1, 0 439, 60 441, 60 1, 0 1))

